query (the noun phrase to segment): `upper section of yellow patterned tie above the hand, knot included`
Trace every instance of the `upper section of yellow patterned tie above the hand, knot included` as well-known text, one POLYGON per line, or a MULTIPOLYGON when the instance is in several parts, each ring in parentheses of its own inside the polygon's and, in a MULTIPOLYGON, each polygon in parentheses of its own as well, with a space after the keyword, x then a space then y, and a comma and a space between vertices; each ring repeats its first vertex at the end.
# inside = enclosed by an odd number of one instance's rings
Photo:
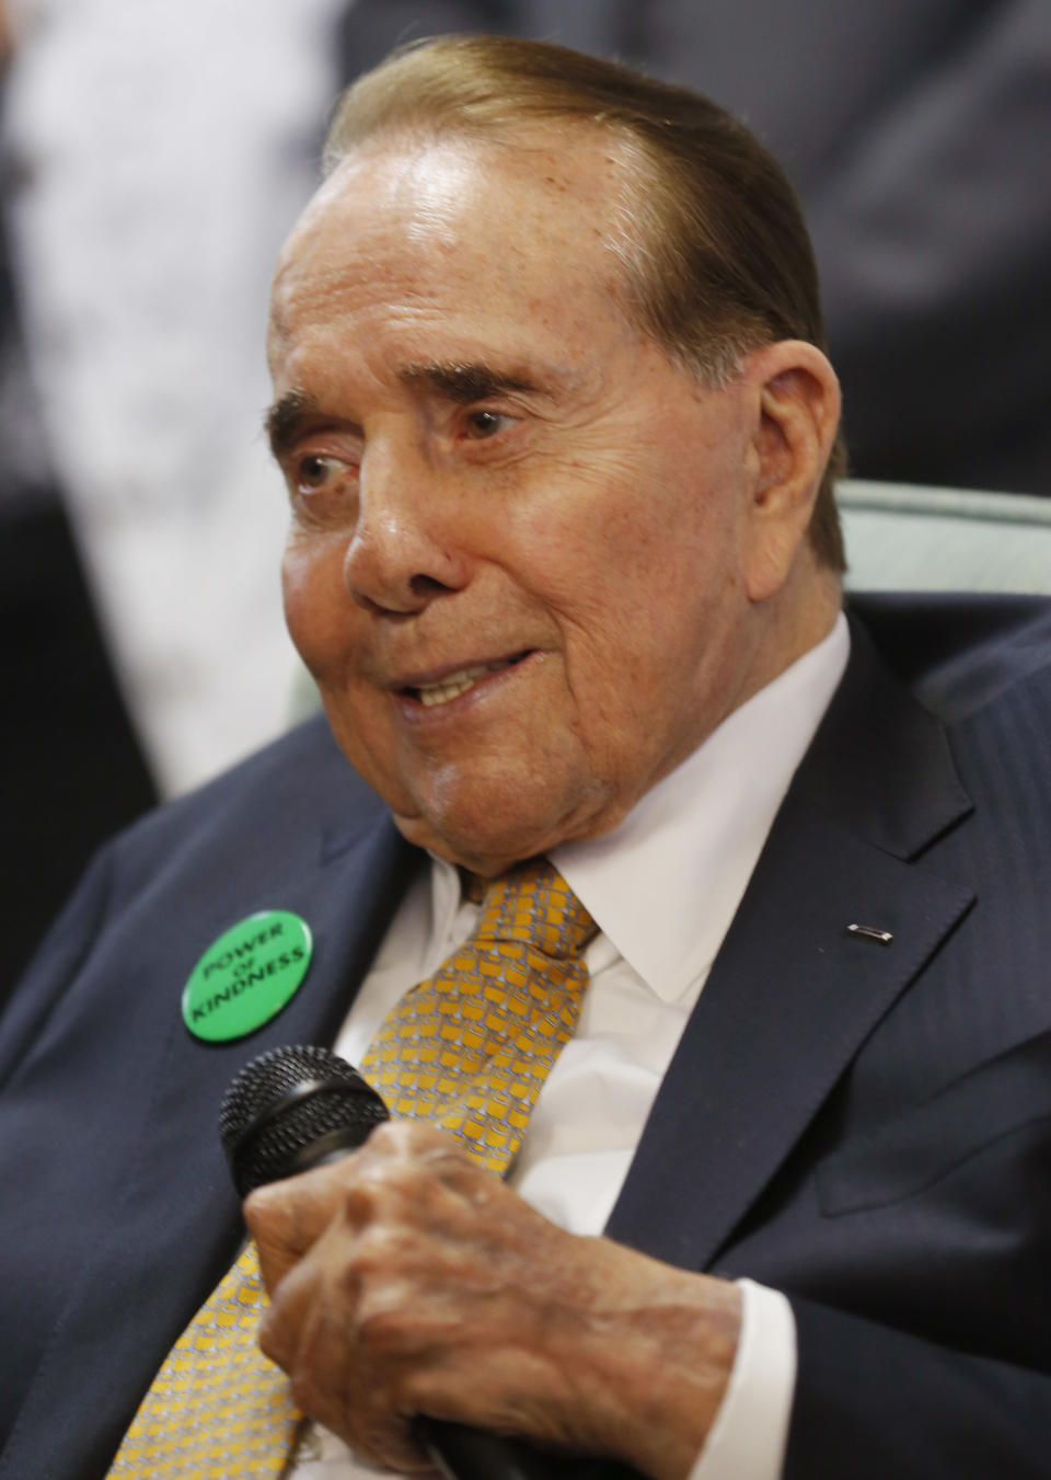
POLYGON ((494 879, 470 938, 401 999, 362 1060, 390 1113, 433 1120, 506 1172, 576 1029, 594 931, 545 860, 494 879))

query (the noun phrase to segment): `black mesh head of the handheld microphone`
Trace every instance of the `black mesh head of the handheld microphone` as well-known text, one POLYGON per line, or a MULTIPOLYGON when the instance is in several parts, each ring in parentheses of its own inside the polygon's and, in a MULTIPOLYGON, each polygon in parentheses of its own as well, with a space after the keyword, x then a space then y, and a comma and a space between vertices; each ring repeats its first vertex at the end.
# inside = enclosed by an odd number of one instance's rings
POLYGON ((242 1197, 253 1187, 303 1171, 303 1153, 343 1132, 361 1146, 387 1107, 346 1060, 327 1048, 272 1048, 232 1080, 219 1110, 219 1134, 242 1197), (288 1104, 282 1101, 288 1097, 288 1104))

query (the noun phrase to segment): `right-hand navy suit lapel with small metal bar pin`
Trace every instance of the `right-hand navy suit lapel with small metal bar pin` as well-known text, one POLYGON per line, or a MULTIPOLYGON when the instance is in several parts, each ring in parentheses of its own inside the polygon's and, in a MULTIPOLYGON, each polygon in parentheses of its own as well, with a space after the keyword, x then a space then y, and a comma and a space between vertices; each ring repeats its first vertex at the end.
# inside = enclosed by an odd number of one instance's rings
POLYGON ((856 629, 844 682, 653 1104, 610 1237, 711 1265, 970 907, 970 891, 909 861, 967 811, 942 727, 856 629))

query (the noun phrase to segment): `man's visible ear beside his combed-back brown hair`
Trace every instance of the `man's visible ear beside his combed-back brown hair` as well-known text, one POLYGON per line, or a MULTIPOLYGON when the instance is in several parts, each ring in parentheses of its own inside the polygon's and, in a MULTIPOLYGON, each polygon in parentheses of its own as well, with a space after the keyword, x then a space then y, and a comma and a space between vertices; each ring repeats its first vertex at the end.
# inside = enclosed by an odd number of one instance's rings
POLYGON ((766 601, 788 580, 840 425, 840 382, 816 345, 780 339, 745 357, 752 417, 745 586, 766 601))

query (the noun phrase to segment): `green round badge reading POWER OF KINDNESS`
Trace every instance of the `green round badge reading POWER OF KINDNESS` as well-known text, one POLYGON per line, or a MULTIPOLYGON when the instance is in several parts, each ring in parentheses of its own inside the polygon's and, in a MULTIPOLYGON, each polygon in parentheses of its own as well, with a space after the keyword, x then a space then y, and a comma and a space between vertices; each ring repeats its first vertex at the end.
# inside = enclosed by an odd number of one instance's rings
POLYGON ((260 910, 238 921, 191 971, 183 1023, 208 1043, 254 1033, 296 995, 312 950, 310 926, 290 910, 260 910))

